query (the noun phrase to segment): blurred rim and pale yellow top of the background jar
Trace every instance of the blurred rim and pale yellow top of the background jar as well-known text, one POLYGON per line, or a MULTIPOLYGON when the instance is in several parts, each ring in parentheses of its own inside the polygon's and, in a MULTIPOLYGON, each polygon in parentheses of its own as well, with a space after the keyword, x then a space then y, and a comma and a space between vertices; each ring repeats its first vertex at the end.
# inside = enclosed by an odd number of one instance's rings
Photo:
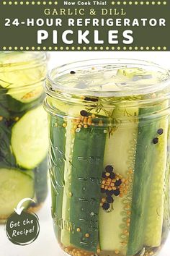
POLYGON ((35 53, 31 51, 22 52, 27 55, 20 55, 20 53, 20 51, 0 53, 0 93, 2 95, 6 94, 8 90, 10 90, 11 95, 13 93, 22 93, 22 91, 28 89, 33 90, 40 85, 40 82, 45 81, 45 67, 46 61, 48 60, 48 54, 45 52, 35 53), (24 56, 26 56, 25 59, 24 56), (27 76, 27 72, 29 72, 31 76, 27 76), (32 75, 32 72, 35 72, 35 76, 32 75), (26 75, 27 79, 22 79, 23 75, 24 77, 26 75))

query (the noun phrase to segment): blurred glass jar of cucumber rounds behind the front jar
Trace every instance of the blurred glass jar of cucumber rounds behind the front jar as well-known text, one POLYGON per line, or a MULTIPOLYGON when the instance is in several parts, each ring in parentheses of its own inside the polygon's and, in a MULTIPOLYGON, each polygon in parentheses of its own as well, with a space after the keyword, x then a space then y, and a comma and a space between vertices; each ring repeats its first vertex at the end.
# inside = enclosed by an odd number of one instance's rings
POLYGON ((47 195, 46 63, 45 53, 0 53, 0 222, 23 198, 35 211, 47 195))

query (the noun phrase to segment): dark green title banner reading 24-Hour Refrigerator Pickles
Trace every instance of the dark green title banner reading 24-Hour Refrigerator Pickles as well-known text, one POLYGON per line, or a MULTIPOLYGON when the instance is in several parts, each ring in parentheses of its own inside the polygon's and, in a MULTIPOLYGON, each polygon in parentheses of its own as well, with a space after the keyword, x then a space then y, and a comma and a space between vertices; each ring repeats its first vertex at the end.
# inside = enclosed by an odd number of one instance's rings
POLYGON ((1 1, 0 51, 170 51, 169 1, 1 1))

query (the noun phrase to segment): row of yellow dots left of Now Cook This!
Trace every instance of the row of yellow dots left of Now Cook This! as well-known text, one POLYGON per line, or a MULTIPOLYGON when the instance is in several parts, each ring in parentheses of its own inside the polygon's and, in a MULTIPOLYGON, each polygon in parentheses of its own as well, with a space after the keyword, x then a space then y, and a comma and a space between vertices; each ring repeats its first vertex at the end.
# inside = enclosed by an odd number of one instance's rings
POLYGON ((46 4, 49 4, 49 5, 56 5, 58 4, 58 1, 1 1, 0 4, 9 4, 9 5, 46 5, 46 4))

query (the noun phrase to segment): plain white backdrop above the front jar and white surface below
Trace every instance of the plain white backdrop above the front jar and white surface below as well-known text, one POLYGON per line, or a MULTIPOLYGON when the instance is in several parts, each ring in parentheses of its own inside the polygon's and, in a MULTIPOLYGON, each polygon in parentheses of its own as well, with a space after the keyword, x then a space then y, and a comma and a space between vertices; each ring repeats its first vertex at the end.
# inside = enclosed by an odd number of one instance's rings
MULTIPOLYGON (((170 69, 170 53, 167 52, 51 52, 49 68, 82 59, 130 58, 154 61, 170 69)), ((37 240, 27 246, 17 246, 6 238, 4 225, 0 226, 0 256, 63 256, 53 233, 50 217, 50 195, 38 213, 40 218, 40 235, 37 240)), ((160 256, 170 255, 170 239, 166 242, 160 256)))

